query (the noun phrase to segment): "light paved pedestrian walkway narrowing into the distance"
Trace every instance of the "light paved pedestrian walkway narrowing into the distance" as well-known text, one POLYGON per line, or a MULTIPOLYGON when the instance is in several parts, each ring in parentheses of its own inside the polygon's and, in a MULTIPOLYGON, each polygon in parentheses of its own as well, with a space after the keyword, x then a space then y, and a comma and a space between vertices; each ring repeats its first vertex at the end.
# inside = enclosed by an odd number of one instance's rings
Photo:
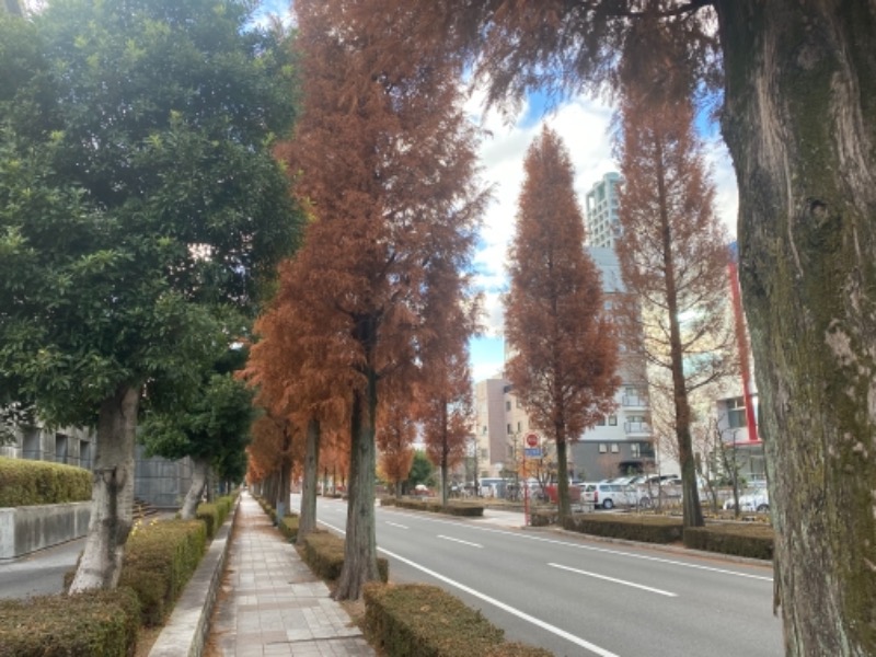
POLYGON ((210 657, 367 657, 373 649, 247 492, 214 611, 210 657))

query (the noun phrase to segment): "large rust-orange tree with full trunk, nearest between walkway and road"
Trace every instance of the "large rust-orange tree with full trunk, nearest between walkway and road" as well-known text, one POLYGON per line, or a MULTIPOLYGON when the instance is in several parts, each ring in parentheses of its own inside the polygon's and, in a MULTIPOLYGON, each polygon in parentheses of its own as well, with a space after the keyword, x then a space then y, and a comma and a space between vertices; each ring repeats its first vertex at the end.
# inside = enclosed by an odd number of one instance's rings
POLYGON ((349 503, 335 597, 357 599, 379 576, 379 385, 423 362, 427 273, 436 256, 470 257, 484 195, 460 68, 439 43, 406 38, 405 7, 302 0, 296 12, 304 100, 284 157, 314 218, 297 257, 312 272, 303 311, 346 367, 337 385, 350 400, 349 503))

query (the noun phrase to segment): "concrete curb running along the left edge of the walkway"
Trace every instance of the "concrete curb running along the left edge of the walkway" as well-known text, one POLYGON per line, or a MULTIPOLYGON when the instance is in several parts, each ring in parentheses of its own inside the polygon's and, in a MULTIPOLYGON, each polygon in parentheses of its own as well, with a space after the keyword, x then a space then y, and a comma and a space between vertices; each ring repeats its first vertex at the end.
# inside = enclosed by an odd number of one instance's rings
POLYGON ((149 650, 149 657, 200 657, 210 631, 210 614, 222 578, 228 551, 231 548, 231 530, 238 518, 240 499, 229 519, 214 537, 207 554, 176 601, 173 613, 149 650), (187 646, 187 648, 186 648, 187 646))

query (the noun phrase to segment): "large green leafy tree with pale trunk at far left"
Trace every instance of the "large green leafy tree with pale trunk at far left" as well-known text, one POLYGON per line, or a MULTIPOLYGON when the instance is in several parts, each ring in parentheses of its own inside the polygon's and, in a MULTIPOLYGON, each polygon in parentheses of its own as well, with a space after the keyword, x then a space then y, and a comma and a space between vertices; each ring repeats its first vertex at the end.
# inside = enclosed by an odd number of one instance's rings
POLYGON ((141 399, 198 390, 293 242, 269 152, 292 69, 277 33, 246 28, 250 8, 58 0, 26 27, 33 76, 0 92, 0 389, 97 427, 73 591, 117 581, 141 399))

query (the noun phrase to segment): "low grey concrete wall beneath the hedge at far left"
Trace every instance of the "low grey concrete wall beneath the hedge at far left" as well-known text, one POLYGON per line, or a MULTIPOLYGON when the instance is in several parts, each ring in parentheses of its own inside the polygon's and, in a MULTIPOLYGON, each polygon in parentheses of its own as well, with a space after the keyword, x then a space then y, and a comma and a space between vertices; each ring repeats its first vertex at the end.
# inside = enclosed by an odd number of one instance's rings
POLYGON ((84 537, 90 502, 0 509, 0 560, 15 558, 84 537))

